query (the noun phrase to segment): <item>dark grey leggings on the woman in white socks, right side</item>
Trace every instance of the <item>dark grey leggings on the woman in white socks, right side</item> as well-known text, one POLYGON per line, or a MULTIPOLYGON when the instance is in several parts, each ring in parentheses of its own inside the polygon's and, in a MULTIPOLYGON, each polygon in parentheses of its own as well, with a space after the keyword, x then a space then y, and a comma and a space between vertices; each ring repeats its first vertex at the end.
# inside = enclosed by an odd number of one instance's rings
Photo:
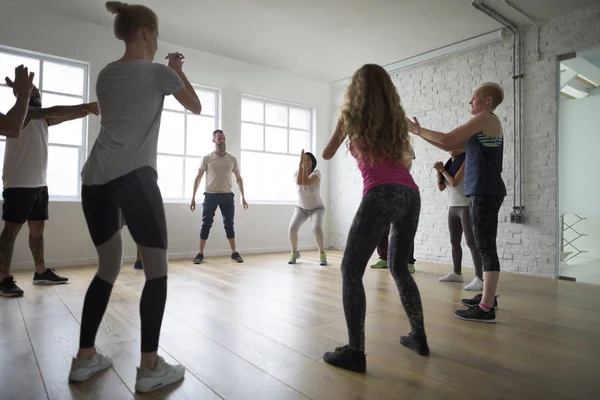
POLYGON ((473 257, 473 265, 475 266, 475 275, 479 279, 483 279, 481 268, 481 255, 477 250, 473 228, 471 226, 471 217, 469 216, 469 206, 464 207, 448 207, 448 230, 450 231, 450 244, 452 244, 452 263, 454 264, 454 272, 460 274, 462 272, 462 235, 465 234, 465 242, 471 257, 473 257))

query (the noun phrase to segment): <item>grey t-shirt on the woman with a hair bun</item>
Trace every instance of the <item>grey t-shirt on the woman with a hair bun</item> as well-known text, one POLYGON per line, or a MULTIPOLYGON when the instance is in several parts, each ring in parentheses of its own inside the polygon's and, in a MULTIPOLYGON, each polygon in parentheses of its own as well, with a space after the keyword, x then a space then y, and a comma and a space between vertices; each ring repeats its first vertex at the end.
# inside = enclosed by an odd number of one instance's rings
POLYGON ((156 170, 165 96, 184 88, 177 73, 145 60, 116 61, 98 75, 100 134, 83 166, 84 185, 102 185, 138 168, 156 170))

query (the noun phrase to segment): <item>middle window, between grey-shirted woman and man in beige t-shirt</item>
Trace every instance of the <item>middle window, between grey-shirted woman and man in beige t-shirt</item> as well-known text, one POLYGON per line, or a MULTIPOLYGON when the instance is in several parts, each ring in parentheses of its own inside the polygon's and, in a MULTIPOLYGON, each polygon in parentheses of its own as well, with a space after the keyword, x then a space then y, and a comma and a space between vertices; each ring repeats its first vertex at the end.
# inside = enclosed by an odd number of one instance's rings
POLYGON ((194 86, 202 113, 187 111, 173 96, 165 98, 158 136, 158 185, 165 201, 189 201, 202 157, 214 150, 212 133, 219 117, 219 91, 194 86))

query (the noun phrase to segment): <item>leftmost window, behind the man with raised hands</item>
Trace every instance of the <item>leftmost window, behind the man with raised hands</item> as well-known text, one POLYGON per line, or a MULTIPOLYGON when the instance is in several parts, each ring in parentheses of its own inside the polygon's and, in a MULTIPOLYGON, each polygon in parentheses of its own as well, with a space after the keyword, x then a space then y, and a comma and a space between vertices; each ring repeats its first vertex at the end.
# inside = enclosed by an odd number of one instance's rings
MULTIPOLYGON (((6 114, 15 103, 12 89, 4 82, 15 67, 23 64, 35 73, 44 108, 76 105, 88 101, 88 65, 51 56, 0 46, 0 112, 6 114)), ((52 199, 79 198, 80 172, 85 159, 88 118, 51 126, 48 130, 48 192, 52 199)), ((6 138, 0 136, 0 165, 4 165, 6 138)))

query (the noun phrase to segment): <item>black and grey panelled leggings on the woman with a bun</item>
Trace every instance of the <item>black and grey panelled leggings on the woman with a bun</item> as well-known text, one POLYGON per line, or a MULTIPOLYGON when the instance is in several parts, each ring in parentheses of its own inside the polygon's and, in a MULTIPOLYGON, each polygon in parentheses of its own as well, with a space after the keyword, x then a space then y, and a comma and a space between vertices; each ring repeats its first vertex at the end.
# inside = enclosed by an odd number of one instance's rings
POLYGON ((167 301, 167 221, 162 196, 151 167, 139 168, 104 185, 84 185, 83 213, 98 252, 98 271, 83 303, 81 348, 94 347, 98 327, 123 257, 121 214, 136 242, 146 283, 140 300, 142 352, 158 350, 167 301))

